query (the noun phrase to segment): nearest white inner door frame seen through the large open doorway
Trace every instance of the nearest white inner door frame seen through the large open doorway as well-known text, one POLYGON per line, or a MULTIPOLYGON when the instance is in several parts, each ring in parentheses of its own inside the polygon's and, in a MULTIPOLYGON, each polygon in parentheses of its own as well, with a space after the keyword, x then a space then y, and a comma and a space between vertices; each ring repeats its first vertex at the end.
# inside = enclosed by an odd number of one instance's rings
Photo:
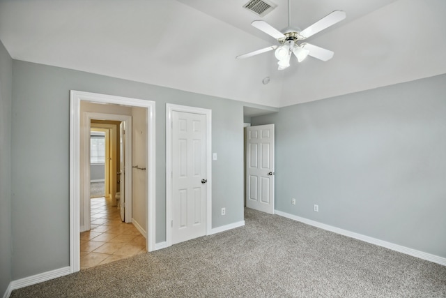
MULTIPOLYGON (((125 198, 125 223, 132 222, 132 116, 129 115, 120 115, 120 114, 102 114, 97 112, 84 112, 84 161, 82 171, 84 174, 84 230, 90 230, 90 221, 91 221, 91 210, 90 210, 90 188, 87 187, 90 185, 90 134, 85 133, 86 131, 91 131, 91 120, 100 119, 100 120, 112 120, 112 121, 121 121, 125 123, 125 129, 130 133, 125 133, 125 175, 124 175, 124 198, 125 198)), ((118 137, 116 131, 116 137, 118 137)), ((82 133, 81 133, 82 135, 82 133)), ((113 140, 113 138, 112 138, 113 140)), ((116 146, 116 142, 114 144, 116 146)), ((114 150, 114 157, 117 161, 118 156, 116 156, 116 150, 114 150)), ((112 167, 112 169, 116 172, 116 167, 112 167)), ((116 177, 115 174, 112 174, 112 177, 116 177)), ((116 191, 116 189, 115 189, 116 191)), ((116 198, 112 198, 116 200, 116 198)))

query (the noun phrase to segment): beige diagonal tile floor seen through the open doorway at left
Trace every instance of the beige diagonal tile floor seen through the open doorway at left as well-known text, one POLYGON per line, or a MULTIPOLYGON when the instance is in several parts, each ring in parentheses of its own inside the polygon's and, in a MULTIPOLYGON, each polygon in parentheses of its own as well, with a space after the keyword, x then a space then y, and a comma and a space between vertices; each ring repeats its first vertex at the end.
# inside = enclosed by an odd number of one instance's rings
POLYGON ((91 230, 81 233, 81 270, 146 253, 146 238, 123 223, 109 199, 91 199, 91 230))

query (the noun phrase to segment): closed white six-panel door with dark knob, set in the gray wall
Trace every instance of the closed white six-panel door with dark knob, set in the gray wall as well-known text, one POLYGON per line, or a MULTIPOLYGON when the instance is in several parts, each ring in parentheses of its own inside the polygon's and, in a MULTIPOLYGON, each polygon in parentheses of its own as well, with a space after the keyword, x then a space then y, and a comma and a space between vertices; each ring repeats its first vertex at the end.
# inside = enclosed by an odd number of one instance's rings
POLYGON ((172 112, 171 244, 206 234, 206 115, 172 112))

